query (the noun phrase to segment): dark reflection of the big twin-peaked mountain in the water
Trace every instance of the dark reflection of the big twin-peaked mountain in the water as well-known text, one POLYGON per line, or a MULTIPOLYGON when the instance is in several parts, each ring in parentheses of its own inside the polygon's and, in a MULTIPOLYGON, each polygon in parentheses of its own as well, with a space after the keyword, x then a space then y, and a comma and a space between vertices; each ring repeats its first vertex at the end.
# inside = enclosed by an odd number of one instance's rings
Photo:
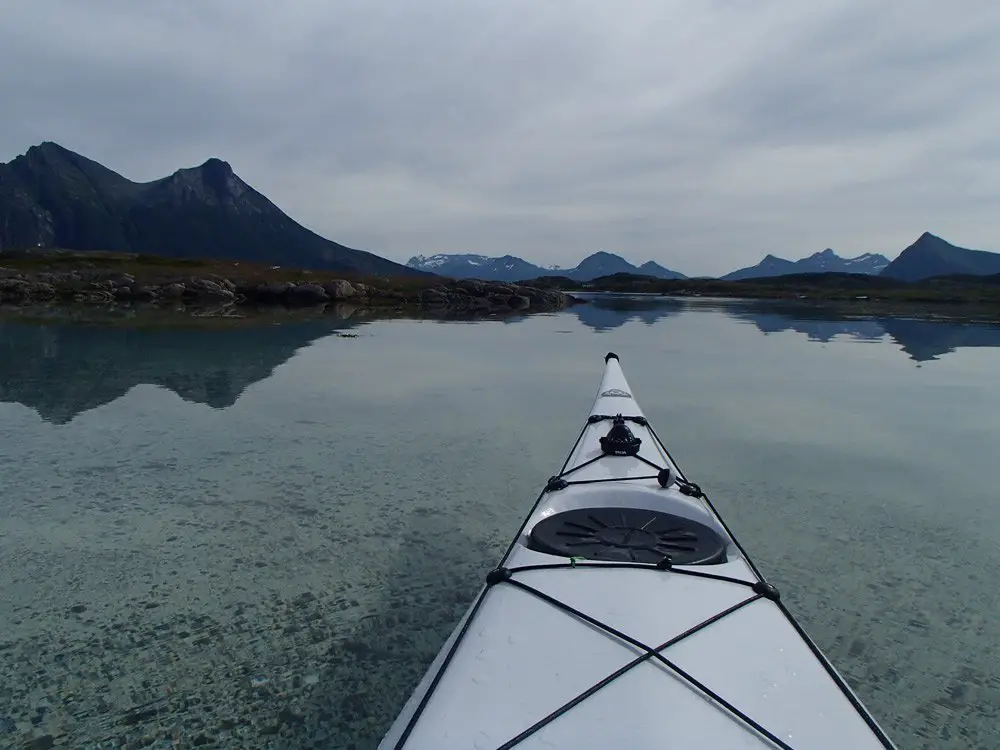
POLYGON ((336 315, 215 328, 0 320, 0 402, 64 424, 150 384, 222 409, 298 349, 354 325, 336 315))

